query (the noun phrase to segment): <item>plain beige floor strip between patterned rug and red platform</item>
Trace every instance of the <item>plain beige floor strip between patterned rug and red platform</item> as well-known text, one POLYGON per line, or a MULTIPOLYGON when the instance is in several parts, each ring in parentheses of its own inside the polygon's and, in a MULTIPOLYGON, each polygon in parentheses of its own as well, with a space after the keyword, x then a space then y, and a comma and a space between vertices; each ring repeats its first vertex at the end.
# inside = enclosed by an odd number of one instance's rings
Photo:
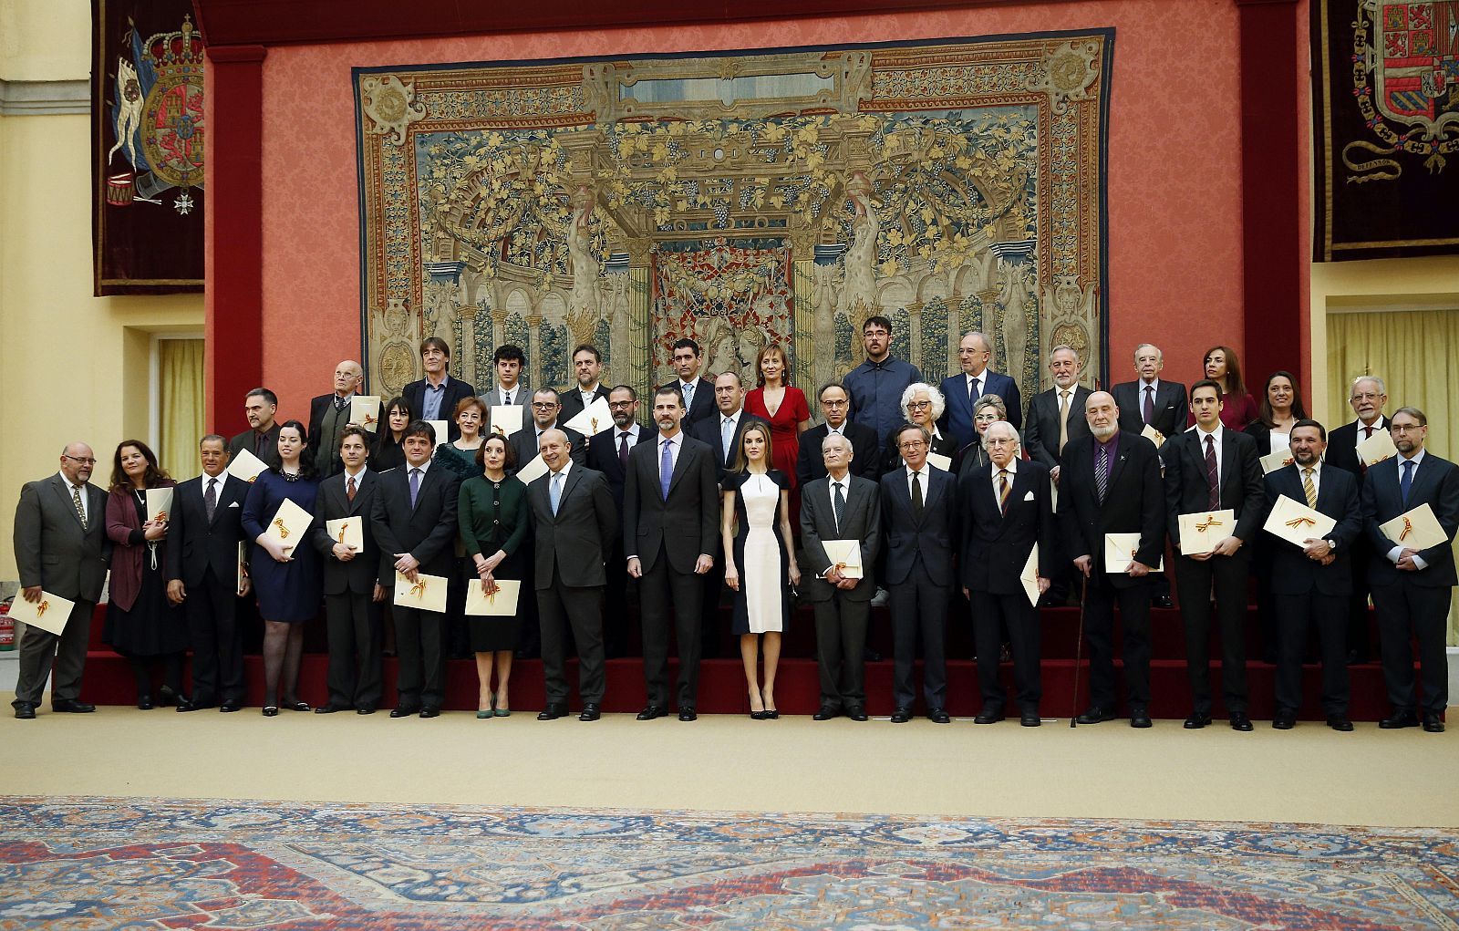
POLYGON ((1039 730, 706 715, 694 724, 263 718, 102 708, 0 718, 0 791, 970 816, 1459 826, 1446 734, 1039 730))

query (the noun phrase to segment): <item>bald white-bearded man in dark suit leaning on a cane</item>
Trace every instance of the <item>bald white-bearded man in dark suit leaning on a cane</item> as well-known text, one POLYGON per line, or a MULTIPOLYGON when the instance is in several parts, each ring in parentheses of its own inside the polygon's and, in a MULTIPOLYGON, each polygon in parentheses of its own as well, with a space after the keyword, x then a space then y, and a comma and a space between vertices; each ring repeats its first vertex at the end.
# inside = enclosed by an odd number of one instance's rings
MULTIPOLYGON (((1090 642, 1090 706, 1075 721, 1113 721, 1115 604, 1123 626, 1129 727, 1150 727, 1150 572, 1166 550, 1166 496, 1156 445, 1119 429, 1119 409, 1107 391, 1084 407, 1088 435, 1064 448, 1059 524, 1064 553, 1085 579, 1084 632, 1090 642), (1104 562, 1107 534, 1139 534, 1125 566, 1104 562)), ((1121 557, 1123 560, 1123 557, 1121 557)))

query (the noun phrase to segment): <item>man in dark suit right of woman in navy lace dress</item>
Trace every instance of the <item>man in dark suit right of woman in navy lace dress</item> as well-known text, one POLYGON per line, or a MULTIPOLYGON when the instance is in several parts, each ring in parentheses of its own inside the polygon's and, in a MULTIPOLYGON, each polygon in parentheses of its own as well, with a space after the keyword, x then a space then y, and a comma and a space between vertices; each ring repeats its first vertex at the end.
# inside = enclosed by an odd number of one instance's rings
POLYGON ((330 700, 314 709, 317 715, 353 708, 374 714, 384 692, 381 684, 381 603, 385 588, 379 584, 379 546, 371 527, 379 474, 366 467, 369 435, 346 426, 340 435, 343 474, 320 483, 311 536, 314 549, 324 557, 324 611, 330 638, 330 700), (359 518, 363 547, 355 549, 328 522, 359 518))

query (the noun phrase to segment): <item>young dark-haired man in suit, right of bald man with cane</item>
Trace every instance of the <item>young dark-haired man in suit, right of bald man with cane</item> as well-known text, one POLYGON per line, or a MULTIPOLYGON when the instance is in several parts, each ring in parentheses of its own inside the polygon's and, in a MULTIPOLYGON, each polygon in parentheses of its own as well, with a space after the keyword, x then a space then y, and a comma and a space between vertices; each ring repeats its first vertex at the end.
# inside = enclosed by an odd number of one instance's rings
POLYGON ((1202 379, 1191 385, 1195 429, 1166 444, 1166 521, 1176 552, 1176 590, 1186 635, 1186 674, 1193 709, 1188 730, 1211 722, 1211 598, 1221 629, 1221 692, 1231 728, 1252 730, 1246 715, 1246 585, 1252 550, 1246 546, 1262 528, 1261 454, 1256 441, 1221 423, 1221 385, 1202 379), (1180 515, 1205 511, 1236 512, 1236 527, 1210 553, 1180 552, 1180 515))

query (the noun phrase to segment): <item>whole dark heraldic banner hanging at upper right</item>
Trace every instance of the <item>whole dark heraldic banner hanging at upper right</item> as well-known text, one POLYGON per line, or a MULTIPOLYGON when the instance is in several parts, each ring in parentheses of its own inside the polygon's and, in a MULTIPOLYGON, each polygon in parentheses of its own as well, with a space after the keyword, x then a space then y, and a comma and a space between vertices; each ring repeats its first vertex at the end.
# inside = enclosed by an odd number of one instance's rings
POLYGON ((1313 258, 1459 252, 1459 0, 1315 0, 1313 258))

